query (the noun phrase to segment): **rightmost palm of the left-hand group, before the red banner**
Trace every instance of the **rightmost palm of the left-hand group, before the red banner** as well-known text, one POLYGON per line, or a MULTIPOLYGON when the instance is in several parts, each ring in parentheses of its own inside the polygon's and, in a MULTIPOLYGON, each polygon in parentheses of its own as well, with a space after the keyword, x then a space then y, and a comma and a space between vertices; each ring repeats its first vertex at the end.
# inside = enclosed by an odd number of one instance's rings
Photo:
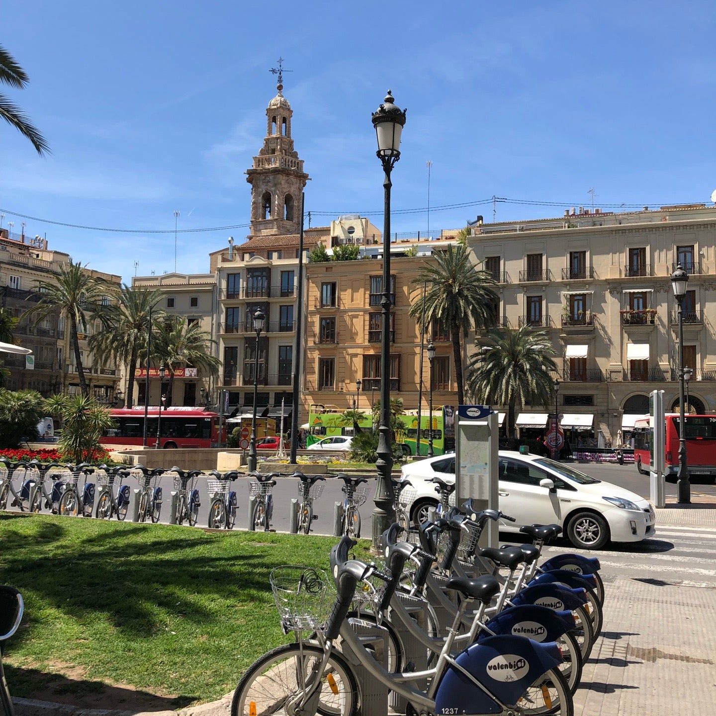
POLYGON ((208 373, 218 372, 221 362, 211 355, 215 342, 198 323, 189 323, 184 316, 166 316, 160 321, 153 339, 153 357, 169 373, 167 405, 172 404, 174 376, 181 366, 191 366, 208 373))

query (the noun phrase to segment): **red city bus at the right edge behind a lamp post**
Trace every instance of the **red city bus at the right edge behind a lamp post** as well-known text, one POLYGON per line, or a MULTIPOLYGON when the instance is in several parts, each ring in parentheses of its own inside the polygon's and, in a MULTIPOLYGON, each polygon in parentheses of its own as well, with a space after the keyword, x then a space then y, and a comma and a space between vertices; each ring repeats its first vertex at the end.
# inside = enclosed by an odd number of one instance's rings
MULTIPOLYGON (((685 415, 684 437, 686 438, 686 459, 689 474, 710 477, 716 483, 716 415, 685 415)), ((648 475, 650 464, 649 448, 652 440, 651 418, 649 415, 634 422, 634 463, 642 475, 648 475)), ((667 482, 676 482, 679 471, 679 414, 666 415, 664 440, 664 475, 667 482)))

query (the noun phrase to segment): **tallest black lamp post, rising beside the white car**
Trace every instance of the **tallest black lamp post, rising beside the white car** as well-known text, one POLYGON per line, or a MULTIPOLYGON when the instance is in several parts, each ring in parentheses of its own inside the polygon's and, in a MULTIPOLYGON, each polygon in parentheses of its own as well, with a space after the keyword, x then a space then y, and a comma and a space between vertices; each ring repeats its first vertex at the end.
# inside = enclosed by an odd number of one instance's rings
POLYGON ((390 89, 372 122, 378 141, 377 157, 383 166, 383 297, 382 332, 380 337, 380 425, 375 466, 378 483, 373 502, 373 547, 377 548, 380 536, 388 528, 393 514, 393 485, 390 472, 393 465, 392 438, 390 435, 390 173, 400 159, 400 135, 405 125, 405 110, 396 107, 390 89))

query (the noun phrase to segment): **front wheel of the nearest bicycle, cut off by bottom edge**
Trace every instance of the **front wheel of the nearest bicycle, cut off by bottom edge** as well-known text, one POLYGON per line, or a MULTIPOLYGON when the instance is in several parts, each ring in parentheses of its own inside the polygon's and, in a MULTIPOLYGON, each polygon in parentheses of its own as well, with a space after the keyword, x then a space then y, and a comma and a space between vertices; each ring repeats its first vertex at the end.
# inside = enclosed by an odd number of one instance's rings
MULTIPOLYGON (((323 649, 316 644, 284 644, 248 667, 231 700, 231 716, 294 713, 294 698, 321 664, 323 649)), ((354 716, 358 686, 351 667, 338 652, 329 657, 321 674, 318 712, 322 716, 354 716)))

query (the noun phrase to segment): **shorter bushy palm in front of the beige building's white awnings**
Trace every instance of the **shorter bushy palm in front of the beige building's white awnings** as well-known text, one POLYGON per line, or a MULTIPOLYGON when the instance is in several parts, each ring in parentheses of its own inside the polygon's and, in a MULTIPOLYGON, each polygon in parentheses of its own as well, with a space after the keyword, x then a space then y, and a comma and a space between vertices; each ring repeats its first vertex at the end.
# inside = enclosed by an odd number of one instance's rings
POLYGON ((507 406, 507 430, 515 435, 516 409, 549 405, 556 372, 555 350, 544 331, 529 326, 490 329, 468 363, 468 387, 486 405, 507 406))

